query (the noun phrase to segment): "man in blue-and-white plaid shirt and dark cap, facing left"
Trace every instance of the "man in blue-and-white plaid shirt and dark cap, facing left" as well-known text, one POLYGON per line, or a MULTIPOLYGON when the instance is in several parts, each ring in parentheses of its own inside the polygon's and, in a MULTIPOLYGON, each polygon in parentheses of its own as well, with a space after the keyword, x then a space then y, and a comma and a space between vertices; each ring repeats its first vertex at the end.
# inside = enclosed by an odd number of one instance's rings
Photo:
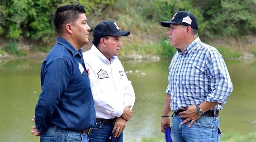
POLYGON ((220 141, 218 114, 232 92, 232 82, 222 55, 197 36, 196 17, 178 11, 162 21, 170 45, 177 48, 169 66, 169 84, 162 113, 161 131, 170 128, 174 142, 220 141))

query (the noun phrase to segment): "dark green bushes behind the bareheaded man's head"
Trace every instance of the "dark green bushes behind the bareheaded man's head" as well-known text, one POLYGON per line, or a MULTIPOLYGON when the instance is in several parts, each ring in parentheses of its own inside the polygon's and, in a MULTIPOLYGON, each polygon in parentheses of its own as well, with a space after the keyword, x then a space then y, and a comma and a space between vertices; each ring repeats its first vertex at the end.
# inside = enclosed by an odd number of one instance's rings
POLYGON ((1 0, 0 34, 17 40, 26 36, 48 42, 55 33, 53 14, 59 6, 83 4, 87 14, 98 11, 115 0, 1 0))

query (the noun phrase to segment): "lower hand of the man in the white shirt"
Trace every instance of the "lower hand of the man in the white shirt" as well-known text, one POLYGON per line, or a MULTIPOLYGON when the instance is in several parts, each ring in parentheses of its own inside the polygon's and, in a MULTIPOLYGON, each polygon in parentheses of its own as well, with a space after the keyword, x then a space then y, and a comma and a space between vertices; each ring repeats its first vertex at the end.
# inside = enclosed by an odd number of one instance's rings
POLYGON ((115 121, 114 128, 112 130, 112 133, 116 130, 114 137, 119 137, 122 131, 124 130, 126 126, 126 120, 122 117, 117 117, 115 121))

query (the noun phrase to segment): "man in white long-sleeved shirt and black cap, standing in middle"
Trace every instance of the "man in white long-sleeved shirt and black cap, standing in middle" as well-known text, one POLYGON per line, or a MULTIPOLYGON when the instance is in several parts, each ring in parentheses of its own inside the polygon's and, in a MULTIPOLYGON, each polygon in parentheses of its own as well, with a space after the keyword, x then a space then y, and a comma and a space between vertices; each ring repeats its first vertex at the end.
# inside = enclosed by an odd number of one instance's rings
POLYGON ((132 116, 135 94, 117 55, 121 36, 129 34, 120 31, 113 20, 102 21, 94 28, 93 46, 83 53, 96 110, 90 142, 107 142, 110 137, 123 141, 122 131, 132 116))

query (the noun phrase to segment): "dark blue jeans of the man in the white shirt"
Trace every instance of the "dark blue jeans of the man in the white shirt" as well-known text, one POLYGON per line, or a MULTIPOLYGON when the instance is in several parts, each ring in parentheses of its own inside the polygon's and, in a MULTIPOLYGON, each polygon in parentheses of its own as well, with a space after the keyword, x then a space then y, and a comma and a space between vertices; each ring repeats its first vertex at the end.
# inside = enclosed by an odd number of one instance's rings
MULTIPOLYGON (((96 121, 92 128, 92 132, 88 135, 89 142, 107 142, 108 138, 111 136, 114 125, 96 121)), ((122 142, 123 132, 116 138, 118 138, 116 142, 122 142)))

